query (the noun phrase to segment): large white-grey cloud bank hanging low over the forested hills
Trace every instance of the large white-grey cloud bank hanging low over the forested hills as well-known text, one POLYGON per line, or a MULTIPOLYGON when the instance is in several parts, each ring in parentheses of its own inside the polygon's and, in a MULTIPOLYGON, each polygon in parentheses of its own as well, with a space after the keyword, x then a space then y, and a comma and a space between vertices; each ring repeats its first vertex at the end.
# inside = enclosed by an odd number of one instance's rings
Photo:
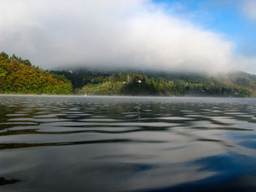
POLYGON ((167 15, 151 1, 2 0, 0 12, 0 50, 43 68, 224 72, 249 62, 233 54, 235 45, 222 34, 167 15))

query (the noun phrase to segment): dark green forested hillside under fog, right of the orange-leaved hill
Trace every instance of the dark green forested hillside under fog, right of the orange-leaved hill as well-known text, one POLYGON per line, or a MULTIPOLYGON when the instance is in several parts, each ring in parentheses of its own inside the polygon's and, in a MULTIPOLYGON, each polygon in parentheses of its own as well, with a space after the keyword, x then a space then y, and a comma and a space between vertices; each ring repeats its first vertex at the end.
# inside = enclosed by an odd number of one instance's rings
POLYGON ((256 96, 256 76, 245 72, 218 76, 86 70, 57 73, 72 81, 75 93, 87 95, 256 96))

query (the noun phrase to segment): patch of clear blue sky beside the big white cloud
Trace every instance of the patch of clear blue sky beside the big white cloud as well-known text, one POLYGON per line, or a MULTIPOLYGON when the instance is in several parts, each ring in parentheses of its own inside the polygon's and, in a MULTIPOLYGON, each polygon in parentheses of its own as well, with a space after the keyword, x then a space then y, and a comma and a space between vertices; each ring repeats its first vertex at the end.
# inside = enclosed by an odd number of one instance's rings
MULTIPOLYGON (((236 43, 236 52, 256 55, 256 20, 243 11, 243 1, 154 0, 165 12, 190 20, 206 30, 223 34, 236 43)), ((256 10, 255 10, 256 12, 256 10)))

